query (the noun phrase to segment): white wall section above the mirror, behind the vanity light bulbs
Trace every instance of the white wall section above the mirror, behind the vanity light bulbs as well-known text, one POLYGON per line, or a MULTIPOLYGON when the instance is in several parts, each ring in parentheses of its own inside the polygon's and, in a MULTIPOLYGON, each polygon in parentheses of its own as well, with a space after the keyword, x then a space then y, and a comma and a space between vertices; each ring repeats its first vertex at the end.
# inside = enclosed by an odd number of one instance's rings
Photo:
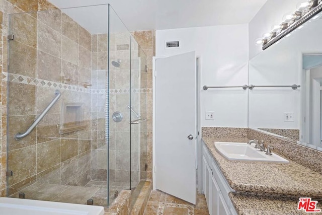
POLYGON ((298 0, 268 0, 249 23, 249 56, 250 59, 262 51, 255 41, 271 31, 272 26, 281 23, 283 16, 296 10, 298 0))

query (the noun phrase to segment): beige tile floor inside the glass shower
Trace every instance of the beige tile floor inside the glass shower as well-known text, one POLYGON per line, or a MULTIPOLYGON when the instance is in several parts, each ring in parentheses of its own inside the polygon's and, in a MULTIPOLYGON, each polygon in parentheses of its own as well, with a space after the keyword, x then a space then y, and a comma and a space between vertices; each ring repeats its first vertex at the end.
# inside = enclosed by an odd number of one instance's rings
MULTIPOLYGON (((114 200, 115 191, 129 189, 129 183, 110 182, 110 202, 114 200)), ((93 199, 94 205, 107 205, 106 181, 90 181, 84 187, 34 183, 10 197, 18 198, 19 193, 25 193, 25 198, 44 201, 58 201, 76 204, 86 204, 88 199, 93 199)))

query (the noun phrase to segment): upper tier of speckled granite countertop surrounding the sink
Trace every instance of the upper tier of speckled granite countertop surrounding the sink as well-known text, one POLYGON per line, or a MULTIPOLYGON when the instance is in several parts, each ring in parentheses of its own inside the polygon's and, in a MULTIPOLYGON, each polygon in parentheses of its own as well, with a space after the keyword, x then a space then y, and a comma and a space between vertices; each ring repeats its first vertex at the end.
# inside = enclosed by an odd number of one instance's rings
MULTIPOLYGON (((322 197, 322 175, 293 161, 289 164, 228 161, 214 147, 214 141, 230 138, 202 138, 230 187, 236 192, 285 194, 292 196, 322 197)), ((234 142, 248 142, 234 138, 234 142)))

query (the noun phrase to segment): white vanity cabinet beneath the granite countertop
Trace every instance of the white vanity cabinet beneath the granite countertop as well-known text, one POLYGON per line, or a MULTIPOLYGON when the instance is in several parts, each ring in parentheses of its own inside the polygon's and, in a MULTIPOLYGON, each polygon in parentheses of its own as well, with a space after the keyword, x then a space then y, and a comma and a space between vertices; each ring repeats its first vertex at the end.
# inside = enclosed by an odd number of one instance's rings
POLYGON ((236 215, 236 210, 228 196, 234 190, 222 175, 219 167, 202 143, 202 189, 211 215, 236 215))

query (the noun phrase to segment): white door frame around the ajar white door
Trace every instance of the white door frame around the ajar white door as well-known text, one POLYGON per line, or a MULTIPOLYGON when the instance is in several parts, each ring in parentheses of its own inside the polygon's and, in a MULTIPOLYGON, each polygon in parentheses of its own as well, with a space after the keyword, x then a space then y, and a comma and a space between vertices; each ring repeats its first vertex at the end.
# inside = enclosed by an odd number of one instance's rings
MULTIPOLYGON (((180 54, 180 53, 178 53, 180 54)), ((175 54, 176 55, 176 54, 175 54)), ((152 57, 152 190, 155 190, 155 61, 157 59, 161 58, 166 58, 166 57, 171 57, 174 55, 166 55, 166 56, 153 56, 152 57)), ((200 57, 197 55, 196 56, 196 61, 197 61, 197 68, 196 68, 196 90, 197 90, 197 106, 196 106, 196 124, 197 124, 197 141, 196 141, 196 171, 197 171, 197 178, 196 178, 196 183, 197 181, 197 191, 201 192, 202 191, 202 171, 201 171, 201 159, 202 159, 202 145, 201 145, 201 127, 200 127, 200 91, 199 91, 199 86, 200 86, 200 57), (199 180, 200 178, 200 180, 199 180)))

